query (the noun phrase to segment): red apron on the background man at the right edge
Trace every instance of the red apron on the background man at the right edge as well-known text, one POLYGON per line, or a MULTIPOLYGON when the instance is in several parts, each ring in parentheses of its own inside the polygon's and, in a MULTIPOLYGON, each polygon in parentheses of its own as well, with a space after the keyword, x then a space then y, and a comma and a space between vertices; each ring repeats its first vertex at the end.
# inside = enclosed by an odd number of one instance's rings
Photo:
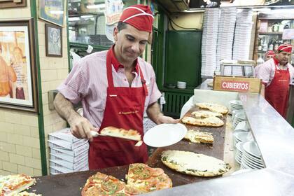
POLYGON ((289 97, 290 73, 289 69, 277 69, 275 65, 274 78, 269 86, 265 87, 265 99, 286 118, 289 97))

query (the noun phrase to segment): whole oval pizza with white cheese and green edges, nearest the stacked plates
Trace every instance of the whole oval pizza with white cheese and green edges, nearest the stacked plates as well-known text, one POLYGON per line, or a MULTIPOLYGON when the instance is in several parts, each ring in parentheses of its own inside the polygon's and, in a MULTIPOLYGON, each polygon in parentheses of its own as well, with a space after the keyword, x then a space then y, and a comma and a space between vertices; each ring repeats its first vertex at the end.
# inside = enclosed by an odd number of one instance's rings
POLYGON ((167 167, 193 176, 220 176, 231 168, 223 160, 187 151, 163 151, 161 160, 167 167))

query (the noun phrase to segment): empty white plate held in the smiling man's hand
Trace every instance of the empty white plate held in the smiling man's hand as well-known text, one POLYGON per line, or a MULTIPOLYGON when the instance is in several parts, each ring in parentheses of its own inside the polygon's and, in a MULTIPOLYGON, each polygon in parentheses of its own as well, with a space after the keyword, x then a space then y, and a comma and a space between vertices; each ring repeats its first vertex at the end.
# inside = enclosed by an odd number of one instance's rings
POLYGON ((187 128, 183 124, 160 124, 148 130, 143 140, 148 146, 164 147, 181 141, 186 133, 187 128))

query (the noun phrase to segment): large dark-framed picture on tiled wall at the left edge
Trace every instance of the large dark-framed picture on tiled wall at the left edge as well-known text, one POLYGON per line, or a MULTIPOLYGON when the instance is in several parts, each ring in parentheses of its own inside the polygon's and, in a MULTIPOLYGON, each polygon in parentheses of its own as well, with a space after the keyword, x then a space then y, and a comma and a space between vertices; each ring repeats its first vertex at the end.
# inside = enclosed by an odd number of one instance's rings
POLYGON ((34 21, 0 20, 0 107, 38 112, 34 21))

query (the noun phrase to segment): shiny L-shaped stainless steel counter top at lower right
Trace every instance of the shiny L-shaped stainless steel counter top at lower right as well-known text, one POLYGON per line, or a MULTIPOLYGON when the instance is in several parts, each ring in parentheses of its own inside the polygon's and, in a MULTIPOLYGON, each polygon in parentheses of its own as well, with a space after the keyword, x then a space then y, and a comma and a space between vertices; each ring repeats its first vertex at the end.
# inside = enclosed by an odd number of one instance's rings
POLYGON ((239 93, 239 98, 266 168, 146 195, 294 195, 293 127, 259 94, 239 93))

